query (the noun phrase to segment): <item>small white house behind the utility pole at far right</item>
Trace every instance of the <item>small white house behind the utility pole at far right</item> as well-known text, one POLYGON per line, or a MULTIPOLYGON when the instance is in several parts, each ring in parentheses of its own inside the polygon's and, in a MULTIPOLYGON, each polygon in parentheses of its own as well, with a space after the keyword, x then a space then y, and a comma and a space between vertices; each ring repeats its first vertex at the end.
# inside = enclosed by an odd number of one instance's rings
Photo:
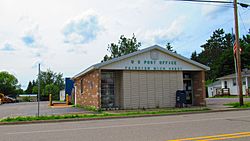
MULTIPOLYGON (((249 94, 250 70, 242 71, 242 91, 243 95, 249 94)), ((208 96, 220 95, 223 90, 228 90, 230 95, 238 95, 236 74, 230 74, 218 78, 218 81, 208 85, 208 96)))

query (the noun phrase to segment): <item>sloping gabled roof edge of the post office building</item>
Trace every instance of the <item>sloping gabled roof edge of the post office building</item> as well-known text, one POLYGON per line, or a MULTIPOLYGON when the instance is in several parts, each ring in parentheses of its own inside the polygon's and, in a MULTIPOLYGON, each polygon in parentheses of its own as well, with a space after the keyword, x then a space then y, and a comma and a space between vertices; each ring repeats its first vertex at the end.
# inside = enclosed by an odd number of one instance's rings
POLYGON ((94 69, 100 69, 103 66, 106 66, 106 65, 112 64, 114 62, 118 62, 118 61, 124 60, 126 58, 129 58, 129 57, 132 57, 132 56, 135 56, 135 55, 138 55, 138 54, 141 54, 141 53, 153 50, 153 49, 157 49, 159 51, 167 53, 167 54, 169 54, 169 55, 171 55, 171 56, 173 56, 175 58, 178 58, 178 59, 180 59, 180 60, 182 60, 184 62, 187 62, 187 63, 193 64, 195 66, 198 66, 198 67, 200 67, 200 68, 202 68, 202 69, 204 69, 206 71, 210 70, 210 68, 208 66, 205 66, 205 65, 203 65, 201 63, 198 63, 196 61, 188 59, 188 58, 186 58, 184 56, 181 56, 181 55, 179 55, 177 53, 173 53, 173 52, 171 52, 171 51, 169 51, 169 50, 167 50, 167 49, 165 49, 165 48, 163 48, 161 46, 153 45, 153 46, 150 46, 148 48, 144 48, 142 50, 138 50, 138 51, 132 52, 130 54, 123 55, 121 57, 113 58, 113 59, 105 61, 105 62, 94 64, 94 65, 90 66, 89 68, 85 69, 84 71, 82 71, 82 72, 78 73, 77 75, 75 75, 72 79, 76 79, 77 77, 82 76, 82 75, 86 74, 87 72, 92 71, 94 69))

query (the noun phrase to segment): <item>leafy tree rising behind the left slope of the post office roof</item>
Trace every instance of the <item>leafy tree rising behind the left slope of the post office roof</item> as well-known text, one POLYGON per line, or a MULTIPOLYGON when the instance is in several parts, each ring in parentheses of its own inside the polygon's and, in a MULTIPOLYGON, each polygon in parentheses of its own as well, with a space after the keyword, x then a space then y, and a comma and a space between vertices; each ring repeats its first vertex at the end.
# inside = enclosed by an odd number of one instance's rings
POLYGON ((102 62, 138 51, 140 46, 141 43, 137 42, 134 34, 132 38, 126 38, 124 35, 121 35, 117 44, 111 43, 108 45, 107 50, 110 52, 110 56, 105 55, 102 62))

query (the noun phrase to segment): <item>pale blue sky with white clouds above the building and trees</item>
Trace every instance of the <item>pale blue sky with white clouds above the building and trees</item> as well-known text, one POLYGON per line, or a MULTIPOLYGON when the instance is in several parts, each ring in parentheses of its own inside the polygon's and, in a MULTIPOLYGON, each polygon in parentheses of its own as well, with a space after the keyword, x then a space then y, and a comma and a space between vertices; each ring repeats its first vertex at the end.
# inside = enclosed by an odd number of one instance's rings
MULTIPOLYGON (((170 42, 190 58, 214 30, 234 27, 231 4, 169 0, 0 0, 0 21, 0 71, 23 89, 39 63, 42 71, 73 77, 99 63, 121 35, 135 34, 140 49, 170 42)), ((250 29, 250 7, 239 7, 239 27, 240 36, 250 29)))

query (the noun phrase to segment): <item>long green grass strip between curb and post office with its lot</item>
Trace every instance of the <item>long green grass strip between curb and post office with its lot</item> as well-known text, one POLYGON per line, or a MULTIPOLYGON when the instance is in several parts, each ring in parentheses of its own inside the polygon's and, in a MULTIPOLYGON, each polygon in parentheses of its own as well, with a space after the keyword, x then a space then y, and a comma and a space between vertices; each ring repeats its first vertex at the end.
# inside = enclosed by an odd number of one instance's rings
POLYGON ((172 108, 172 109, 154 109, 154 110, 130 110, 118 112, 101 112, 97 114, 67 114, 67 115, 50 115, 50 116, 19 116, 0 119, 0 122, 19 122, 19 121, 37 121, 37 120, 58 120, 58 119, 90 119, 90 118, 105 118, 105 117, 129 117, 140 115, 160 115, 174 114, 181 112, 198 112, 209 110, 206 107, 199 108, 172 108))

